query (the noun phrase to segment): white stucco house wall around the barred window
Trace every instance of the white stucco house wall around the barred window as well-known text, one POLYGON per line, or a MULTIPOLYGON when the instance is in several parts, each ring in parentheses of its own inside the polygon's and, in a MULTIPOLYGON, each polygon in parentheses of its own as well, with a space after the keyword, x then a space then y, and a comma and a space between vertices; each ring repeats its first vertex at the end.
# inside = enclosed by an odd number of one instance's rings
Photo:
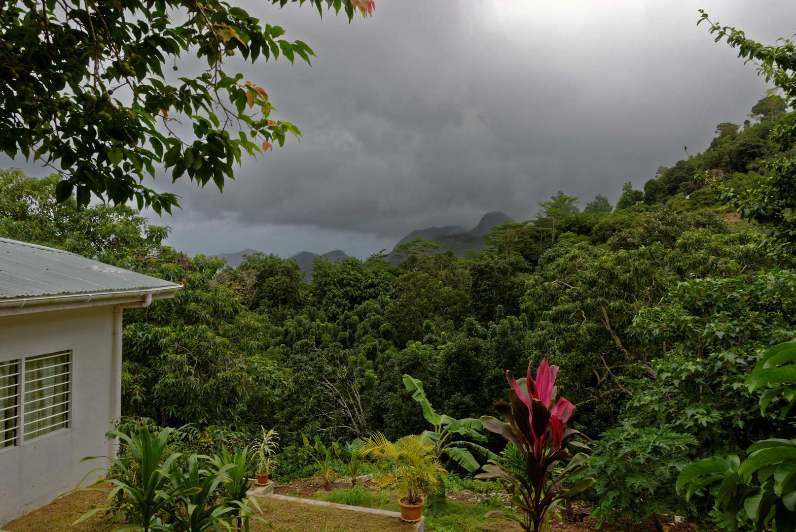
MULTIPOLYGON (((111 456, 113 305, 0 316, 0 362, 72 349, 72 414, 67 429, 0 449, 0 528, 76 487, 111 456)), ((85 482, 96 480, 95 473, 85 482)))

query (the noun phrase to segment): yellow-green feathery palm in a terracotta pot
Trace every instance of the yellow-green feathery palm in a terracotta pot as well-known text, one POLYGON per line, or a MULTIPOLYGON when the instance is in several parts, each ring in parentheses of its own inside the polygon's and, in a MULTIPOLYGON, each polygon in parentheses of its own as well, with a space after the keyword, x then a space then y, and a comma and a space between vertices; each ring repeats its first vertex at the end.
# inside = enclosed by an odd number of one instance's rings
POLYGON ((434 445, 419 436, 405 436, 392 443, 381 433, 365 438, 362 443, 357 449, 360 456, 375 458, 380 468, 383 468, 384 462, 391 462, 395 466, 392 472, 381 472, 373 479, 377 489, 397 483, 400 490, 406 493, 398 501, 400 518, 407 522, 418 522, 425 502, 421 494, 434 493, 439 484, 439 475, 446 472, 434 456, 434 445))

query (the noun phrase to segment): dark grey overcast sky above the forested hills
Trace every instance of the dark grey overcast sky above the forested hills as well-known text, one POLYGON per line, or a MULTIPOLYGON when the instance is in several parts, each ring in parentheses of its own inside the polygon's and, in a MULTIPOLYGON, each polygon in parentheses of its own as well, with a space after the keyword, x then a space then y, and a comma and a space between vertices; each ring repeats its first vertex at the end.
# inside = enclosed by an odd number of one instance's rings
POLYGON ((271 118, 303 137, 244 160, 223 194, 187 177, 155 183, 183 210, 153 223, 191 254, 365 258, 413 229, 474 227, 498 210, 529 219, 557 190, 581 208, 598 193, 615 203, 622 183, 641 188, 683 146, 704 150, 766 91, 696 26, 697 9, 766 43, 796 31, 796 2, 781 0, 376 0, 351 24, 247 3, 317 57, 252 67, 239 54, 224 70, 264 87, 271 118))

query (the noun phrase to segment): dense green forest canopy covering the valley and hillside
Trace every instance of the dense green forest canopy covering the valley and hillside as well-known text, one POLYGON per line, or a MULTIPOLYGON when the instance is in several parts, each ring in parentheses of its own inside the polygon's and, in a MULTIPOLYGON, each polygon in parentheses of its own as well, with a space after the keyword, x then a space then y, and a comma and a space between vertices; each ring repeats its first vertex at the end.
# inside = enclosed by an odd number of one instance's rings
MULTIPOLYGON (((168 227, 123 204, 59 203, 56 175, 0 173, 0 235, 185 279, 174 299, 124 314, 126 416, 190 423, 209 441, 275 427, 286 446, 276 474, 287 476, 307 471, 302 433, 330 443, 427 429, 404 375, 440 412, 478 418, 504 398, 506 370, 548 359, 578 429, 599 442, 597 474, 615 467, 617 442, 635 442, 624 452, 646 465, 625 474, 644 479, 644 511, 695 511, 673 495, 685 464, 796 437, 743 386, 760 353, 796 336, 796 274, 774 245, 790 240, 736 212, 787 155, 772 142, 786 111, 761 99, 754 123, 719 124, 707 150, 642 190, 625 184, 615 208, 614 191, 583 211, 558 192, 533 219, 493 227, 486 250, 457 258, 416 239, 396 249, 397 266, 381 253, 316 258, 311 284, 273 254, 234 269, 189 257, 162 245, 168 227)), ((504 447, 494 435, 485 445, 504 447)))

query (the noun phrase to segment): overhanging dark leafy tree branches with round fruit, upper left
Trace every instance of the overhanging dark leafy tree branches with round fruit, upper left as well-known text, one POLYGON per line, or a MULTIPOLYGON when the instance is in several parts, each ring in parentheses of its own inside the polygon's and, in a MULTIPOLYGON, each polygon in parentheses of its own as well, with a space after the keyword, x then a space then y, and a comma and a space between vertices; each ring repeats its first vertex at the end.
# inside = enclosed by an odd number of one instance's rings
MULTIPOLYGON (((324 2, 307 3, 320 11, 324 2)), ((369 0, 326 5, 344 9, 349 19, 356 9, 373 10, 369 0)), ((222 70, 236 52, 252 62, 281 54, 309 63, 312 49, 280 38, 284 33, 217 0, 4 2, 0 149, 57 170, 58 202, 76 192, 82 206, 94 194, 170 212, 177 196, 142 184, 145 173, 155 176, 155 165, 173 167, 174 179, 188 173, 222 188, 242 153, 263 153, 274 142, 283 145, 287 134, 300 136, 290 122, 269 118, 274 107, 258 86, 262 80, 222 70), (205 72, 166 78, 166 56, 194 53, 207 60, 205 72)))

